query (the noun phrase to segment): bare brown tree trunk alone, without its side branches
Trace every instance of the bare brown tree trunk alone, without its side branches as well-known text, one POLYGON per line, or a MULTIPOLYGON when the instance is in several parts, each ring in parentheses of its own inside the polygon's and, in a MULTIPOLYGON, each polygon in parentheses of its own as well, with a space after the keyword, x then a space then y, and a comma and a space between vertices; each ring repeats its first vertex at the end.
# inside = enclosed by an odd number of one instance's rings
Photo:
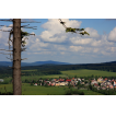
POLYGON ((21 19, 13 19, 13 95, 22 95, 21 19))

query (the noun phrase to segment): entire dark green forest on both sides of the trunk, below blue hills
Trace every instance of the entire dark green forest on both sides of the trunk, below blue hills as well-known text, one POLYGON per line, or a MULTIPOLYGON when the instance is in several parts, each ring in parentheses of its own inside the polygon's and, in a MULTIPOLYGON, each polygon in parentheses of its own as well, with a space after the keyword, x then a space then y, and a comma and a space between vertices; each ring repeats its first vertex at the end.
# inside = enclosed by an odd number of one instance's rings
MULTIPOLYGON (((56 65, 56 66, 26 66, 21 67, 21 70, 34 70, 37 71, 22 71, 22 76, 47 76, 47 74, 61 74, 60 71, 90 69, 116 72, 116 62, 107 63, 85 63, 85 65, 56 65)), ((12 77, 12 69, 9 67, 0 67, 0 78, 12 77)))

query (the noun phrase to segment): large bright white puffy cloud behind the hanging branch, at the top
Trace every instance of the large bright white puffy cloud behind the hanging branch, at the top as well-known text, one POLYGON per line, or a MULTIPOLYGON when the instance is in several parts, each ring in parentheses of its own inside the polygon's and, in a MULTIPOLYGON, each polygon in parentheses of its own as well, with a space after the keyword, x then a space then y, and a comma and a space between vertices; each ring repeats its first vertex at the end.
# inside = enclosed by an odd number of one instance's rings
MULTIPOLYGON (((67 27, 79 27, 82 23, 76 20, 69 21, 69 19, 61 20, 66 22, 67 27)), ((66 33, 65 27, 59 23, 58 19, 48 19, 48 22, 43 24, 42 27, 46 28, 46 31, 40 34, 42 39, 45 42, 61 43, 68 38, 69 34, 66 33)))

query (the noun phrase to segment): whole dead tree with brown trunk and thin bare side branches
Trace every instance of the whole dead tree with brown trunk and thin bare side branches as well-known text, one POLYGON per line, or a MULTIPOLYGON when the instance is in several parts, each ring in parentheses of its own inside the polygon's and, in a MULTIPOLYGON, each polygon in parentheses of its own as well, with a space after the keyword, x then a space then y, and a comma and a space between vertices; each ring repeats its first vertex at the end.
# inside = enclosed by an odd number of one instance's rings
MULTIPOLYGON (((27 25, 21 26, 21 19, 13 19, 13 20, 0 20, 0 21, 12 21, 13 22, 13 28, 11 31, 4 31, 4 32, 10 32, 9 36, 9 49, 10 49, 10 40, 11 40, 11 34, 13 34, 13 39, 12 45, 13 49, 9 51, 13 51, 13 66, 11 67, 13 69, 12 77, 13 77, 13 95, 22 95, 22 81, 21 81, 21 51, 24 51, 25 49, 21 49, 21 45, 24 45, 24 40, 22 40, 24 32, 21 32, 21 27, 26 27, 26 28, 33 28, 28 27, 27 25)), ((22 23, 28 23, 28 22, 22 22, 22 23)), ((35 23, 35 22, 31 22, 35 23)), ((37 22, 36 22, 37 23, 37 22)), ((1 25, 2 26, 2 25, 1 25)), ((36 28, 34 28, 36 30, 36 28)), ((28 35, 35 35, 35 34, 30 34, 28 35)), ((3 49, 0 49, 3 50, 3 49)), ((5 49, 4 49, 5 50, 5 49)), ((8 51, 8 50, 5 50, 8 51)), ((8 55, 8 54, 7 54, 8 55)))

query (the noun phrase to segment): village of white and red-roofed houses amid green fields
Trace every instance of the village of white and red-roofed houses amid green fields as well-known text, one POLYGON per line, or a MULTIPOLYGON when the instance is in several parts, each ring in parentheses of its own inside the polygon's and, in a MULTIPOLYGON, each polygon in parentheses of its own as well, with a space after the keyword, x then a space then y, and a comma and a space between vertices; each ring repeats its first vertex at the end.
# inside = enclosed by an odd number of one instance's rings
MULTIPOLYGON (((53 79, 51 81, 48 80, 39 80, 42 85, 42 82, 44 81, 44 85, 54 85, 54 86, 60 86, 60 85, 69 85, 71 84, 72 86, 77 86, 77 84, 80 82, 80 84, 84 86, 89 86, 90 84, 96 88, 97 90, 108 90, 108 89, 114 89, 116 88, 116 80, 114 79, 103 79, 102 77, 98 78, 97 80, 84 80, 81 78, 72 78, 72 79, 53 79)), ((35 83, 34 85, 37 85, 35 83)))

